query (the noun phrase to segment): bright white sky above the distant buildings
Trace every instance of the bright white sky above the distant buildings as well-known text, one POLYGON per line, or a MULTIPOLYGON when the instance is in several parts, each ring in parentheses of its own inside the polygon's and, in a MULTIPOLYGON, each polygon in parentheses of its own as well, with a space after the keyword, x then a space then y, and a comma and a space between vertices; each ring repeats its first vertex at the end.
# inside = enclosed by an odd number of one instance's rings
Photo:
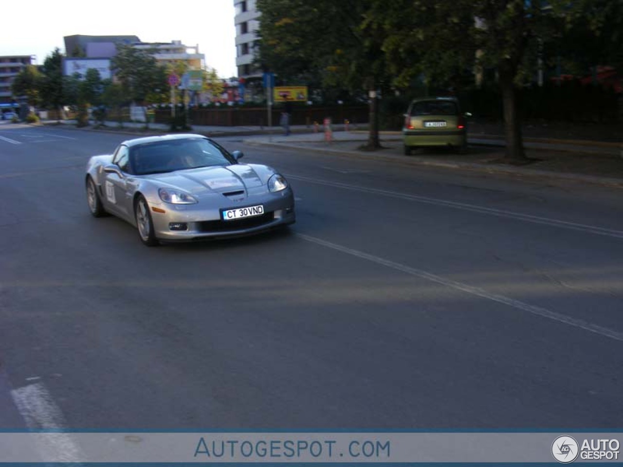
POLYGON ((219 77, 237 75, 234 0, 4 0, 0 56, 36 55, 37 65, 65 35, 136 35, 143 42, 199 45, 219 77))

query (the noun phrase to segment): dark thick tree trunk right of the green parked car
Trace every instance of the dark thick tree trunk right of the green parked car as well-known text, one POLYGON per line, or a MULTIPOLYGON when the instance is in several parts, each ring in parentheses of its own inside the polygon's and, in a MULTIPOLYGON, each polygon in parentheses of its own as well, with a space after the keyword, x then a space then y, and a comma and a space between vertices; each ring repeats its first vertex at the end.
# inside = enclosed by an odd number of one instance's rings
POLYGON ((517 106, 515 83, 511 73, 500 70, 500 87, 504 110, 504 129, 506 134, 506 162, 511 164, 525 163, 523 138, 521 136, 521 118, 517 106))

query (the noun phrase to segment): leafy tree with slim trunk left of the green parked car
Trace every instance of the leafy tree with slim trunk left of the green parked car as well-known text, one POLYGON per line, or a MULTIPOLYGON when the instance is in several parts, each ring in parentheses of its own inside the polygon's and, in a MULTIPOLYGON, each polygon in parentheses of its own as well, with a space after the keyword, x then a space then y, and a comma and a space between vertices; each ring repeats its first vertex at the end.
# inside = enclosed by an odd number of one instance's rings
POLYGON ((379 89, 388 82, 383 29, 369 21, 375 0, 258 0, 259 64, 292 82, 320 82, 369 93, 366 149, 378 136, 379 89), (338 25, 338 27, 336 27, 338 25))

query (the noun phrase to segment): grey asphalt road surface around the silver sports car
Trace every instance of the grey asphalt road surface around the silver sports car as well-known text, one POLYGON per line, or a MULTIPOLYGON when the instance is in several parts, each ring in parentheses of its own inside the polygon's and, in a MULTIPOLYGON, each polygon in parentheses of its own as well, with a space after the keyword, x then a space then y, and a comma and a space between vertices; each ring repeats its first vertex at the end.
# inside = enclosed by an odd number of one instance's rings
POLYGON ((0 428, 614 428, 621 191, 242 146, 284 234, 146 248, 127 136, 0 127, 0 428))

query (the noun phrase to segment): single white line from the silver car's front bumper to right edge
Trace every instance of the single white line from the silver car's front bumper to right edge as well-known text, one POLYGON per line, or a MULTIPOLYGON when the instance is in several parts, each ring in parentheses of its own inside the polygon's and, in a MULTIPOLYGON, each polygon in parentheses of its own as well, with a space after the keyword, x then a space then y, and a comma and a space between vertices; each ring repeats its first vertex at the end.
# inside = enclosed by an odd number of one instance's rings
POLYGON ((422 279, 445 285, 447 287, 454 288, 455 290, 460 290, 470 293, 472 295, 477 295, 479 297, 486 298, 487 300, 497 301, 498 303, 506 304, 513 308, 520 309, 521 311, 527 311, 528 313, 535 314, 536 316, 552 319, 553 321, 568 324, 569 326, 574 326, 574 328, 584 329, 584 331, 590 331, 591 333, 599 334, 600 336, 604 337, 609 337, 610 339, 614 339, 616 341, 623 341, 623 333, 614 331, 614 329, 608 329, 602 326, 598 326, 597 324, 589 323, 588 321, 584 321, 583 319, 572 318, 571 316, 567 316, 566 314, 549 311, 546 308, 523 303, 522 301, 514 300, 503 295, 498 295, 497 293, 489 293, 486 290, 478 287, 473 287, 464 283, 446 279, 444 277, 437 276, 421 269, 412 268, 407 265, 402 265, 400 263, 394 263, 393 261, 389 261, 378 256, 369 255, 368 253, 353 250, 352 248, 348 247, 343 247, 341 245, 337 245, 336 243, 327 242, 326 240, 321 240, 320 238, 310 237, 310 235, 297 234, 297 236, 303 238, 303 240, 307 240, 307 242, 316 243, 317 245, 331 248, 333 250, 337 250, 338 252, 346 253, 348 255, 352 255, 363 260, 368 260, 397 271, 402 271, 412 276, 417 276, 422 279))

